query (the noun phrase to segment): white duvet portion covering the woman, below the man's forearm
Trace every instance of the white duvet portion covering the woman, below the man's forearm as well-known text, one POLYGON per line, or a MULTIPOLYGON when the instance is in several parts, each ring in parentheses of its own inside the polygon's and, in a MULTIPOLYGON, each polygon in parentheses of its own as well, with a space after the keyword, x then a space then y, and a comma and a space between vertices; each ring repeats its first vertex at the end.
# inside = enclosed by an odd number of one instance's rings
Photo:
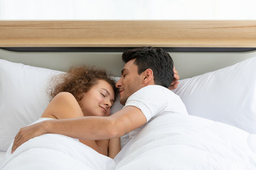
POLYGON ((35 137, 10 154, 1 164, 2 170, 11 169, 114 169, 114 160, 99 154, 78 140, 64 135, 46 134, 35 137))

